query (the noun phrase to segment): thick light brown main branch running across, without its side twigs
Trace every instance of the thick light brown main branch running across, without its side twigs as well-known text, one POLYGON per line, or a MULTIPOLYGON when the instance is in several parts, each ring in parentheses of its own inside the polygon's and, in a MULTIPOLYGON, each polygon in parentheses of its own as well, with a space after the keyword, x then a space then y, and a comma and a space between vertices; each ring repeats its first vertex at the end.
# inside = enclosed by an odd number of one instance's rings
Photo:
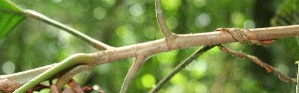
MULTIPOLYGON (((249 29, 248 31, 252 31, 252 33, 257 37, 258 40, 271 40, 299 36, 299 25, 256 28, 249 29)), ((159 39, 145 43, 99 51, 97 53, 76 54, 75 56, 70 56, 66 58, 64 61, 56 64, 46 72, 43 72, 41 75, 38 75, 36 78, 32 79, 31 81, 23 85, 21 88, 19 88, 18 92, 26 92, 26 90, 32 88, 34 85, 44 80, 47 80, 48 78, 57 74, 58 72, 65 70, 66 68, 72 66, 74 67, 80 64, 87 64, 85 65, 87 67, 84 68, 86 70, 100 64, 135 57, 136 52, 141 52, 143 55, 151 56, 157 53, 166 52, 170 50, 177 50, 202 45, 217 45, 231 42, 236 42, 236 40, 229 33, 214 31, 197 34, 178 34, 170 45, 167 44, 165 39, 159 39)), ((82 71, 82 69, 80 71, 82 71)), ((75 71, 71 74, 77 74, 80 71, 75 71)), ((30 70, 28 72, 33 73, 34 70, 30 70)), ((34 75, 32 75, 32 77, 33 76, 34 75)), ((0 76, 0 78, 2 77, 3 76, 0 76)), ((22 76, 20 76, 20 78, 22 78, 22 76)))

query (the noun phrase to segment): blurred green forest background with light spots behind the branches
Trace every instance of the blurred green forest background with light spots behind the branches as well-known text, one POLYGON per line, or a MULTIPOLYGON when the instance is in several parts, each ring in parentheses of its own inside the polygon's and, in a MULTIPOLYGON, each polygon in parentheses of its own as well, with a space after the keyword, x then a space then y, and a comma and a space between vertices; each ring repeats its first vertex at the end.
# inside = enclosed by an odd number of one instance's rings
MULTIPOLYGON (((115 47, 163 38, 154 0, 11 0, 115 47)), ((203 33, 220 27, 259 28, 299 21, 296 0, 162 0, 169 28, 179 34, 203 33)), ((268 47, 230 43, 236 51, 255 55, 296 77, 298 39, 278 39, 268 47)), ((129 93, 148 92, 188 57, 193 47, 157 54, 143 65, 129 93)), ((82 40, 43 22, 27 18, 0 41, 0 74, 56 63, 75 53, 97 52, 82 40)), ((82 86, 117 93, 134 58, 97 66, 78 74, 82 86)), ((43 90, 41 92, 47 92, 43 90)), ((174 76, 159 93, 295 93, 295 84, 248 59, 213 48, 174 76)))

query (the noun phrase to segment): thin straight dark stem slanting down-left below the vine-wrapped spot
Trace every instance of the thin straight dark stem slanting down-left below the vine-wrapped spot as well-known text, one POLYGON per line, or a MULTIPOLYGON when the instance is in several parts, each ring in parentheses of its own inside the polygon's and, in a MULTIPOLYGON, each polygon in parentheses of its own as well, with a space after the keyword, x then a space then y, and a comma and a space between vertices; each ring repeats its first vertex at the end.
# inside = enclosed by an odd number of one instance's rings
POLYGON ((186 58, 183 62, 181 62, 175 69, 164 77, 155 87, 153 87, 149 93, 156 93, 166 82, 168 82, 175 74, 184 69, 188 64, 190 64, 193 60, 195 60, 198 56, 202 55, 206 51, 210 50, 214 46, 204 46, 201 49, 198 49, 196 52, 191 54, 188 58, 186 58))

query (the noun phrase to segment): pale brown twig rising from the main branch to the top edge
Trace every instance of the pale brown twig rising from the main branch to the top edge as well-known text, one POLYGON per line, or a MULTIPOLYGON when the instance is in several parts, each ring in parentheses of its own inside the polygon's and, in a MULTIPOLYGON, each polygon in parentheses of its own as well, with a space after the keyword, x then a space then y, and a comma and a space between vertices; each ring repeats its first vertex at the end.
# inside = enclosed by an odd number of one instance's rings
POLYGON ((162 33, 164 34, 166 41, 171 41, 175 38, 175 34, 172 33, 165 21, 164 15, 163 15, 163 11, 161 9, 161 1, 160 0, 156 0, 155 1, 155 9, 156 9, 156 17, 157 17, 157 21, 158 24, 161 28, 162 33))

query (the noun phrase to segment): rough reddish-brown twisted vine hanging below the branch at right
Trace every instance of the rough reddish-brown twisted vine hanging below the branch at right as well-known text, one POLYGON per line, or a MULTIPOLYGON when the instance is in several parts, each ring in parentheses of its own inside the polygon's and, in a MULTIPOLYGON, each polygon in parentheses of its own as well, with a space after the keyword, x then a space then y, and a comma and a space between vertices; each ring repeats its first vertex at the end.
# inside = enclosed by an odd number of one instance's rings
POLYGON ((231 50, 227 47, 224 47, 222 45, 219 45, 218 47, 220 48, 221 51, 223 51, 225 53, 232 54, 232 55, 238 56, 240 58, 250 59, 255 64, 257 64, 257 65, 261 66, 262 68, 264 68, 265 70, 267 70, 268 73, 274 72, 274 73, 278 74, 279 79, 286 82, 286 83, 288 83, 290 81, 296 82, 296 80, 288 77, 287 75, 285 75, 282 72, 278 71, 277 69, 270 66, 269 64, 264 63, 263 61, 261 61, 259 58, 255 57, 255 56, 251 56, 251 55, 248 55, 248 54, 243 53, 243 52, 237 52, 237 51, 231 50))

